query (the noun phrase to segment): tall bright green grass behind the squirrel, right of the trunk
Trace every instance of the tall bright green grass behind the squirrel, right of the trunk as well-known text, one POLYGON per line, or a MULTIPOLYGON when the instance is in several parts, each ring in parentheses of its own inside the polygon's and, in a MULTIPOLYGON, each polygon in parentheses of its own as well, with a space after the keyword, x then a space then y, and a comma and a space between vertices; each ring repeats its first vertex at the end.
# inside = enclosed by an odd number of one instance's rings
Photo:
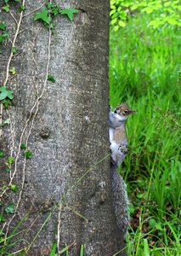
POLYGON ((120 168, 131 201, 128 255, 180 255, 180 37, 148 15, 110 31, 110 105, 128 102, 130 154, 120 168))

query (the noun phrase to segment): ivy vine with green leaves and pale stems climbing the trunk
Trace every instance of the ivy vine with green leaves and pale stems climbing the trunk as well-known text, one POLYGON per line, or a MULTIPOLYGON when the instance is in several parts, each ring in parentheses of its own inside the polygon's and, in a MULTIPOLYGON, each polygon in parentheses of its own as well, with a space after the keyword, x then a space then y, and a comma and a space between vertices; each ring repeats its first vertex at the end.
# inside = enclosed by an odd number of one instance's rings
POLYGON ((52 76, 51 74, 48 74, 51 36, 55 28, 54 18, 56 15, 65 15, 69 20, 72 21, 74 19, 74 15, 76 15, 79 12, 79 10, 78 9, 62 9, 59 7, 59 5, 54 5, 53 3, 51 3, 51 0, 49 1, 49 3, 42 4, 41 9, 36 9, 35 11, 32 11, 30 14, 25 14, 25 15, 23 15, 24 11, 27 10, 25 7, 25 0, 22 0, 22 1, 21 0, 3 0, 3 6, 1 7, 1 9, 3 10, 3 12, 7 14, 9 13, 12 16, 12 18, 16 23, 17 28, 14 33, 14 38, 12 39, 9 36, 7 24, 0 20, 0 54, 1 54, 1 47, 3 46, 3 44, 6 43, 6 40, 9 40, 9 42, 11 43, 11 52, 8 57, 8 64, 6 69, 7 72, 6 72, 5 80, 3 84, 0 84, 0 138, 2 136, 2 129, 4 125, 10 125, 10 131, 12 129, 11 127, 12 123, 11 123, 10 117, 8 119, 3 120, 2 116, 3 116, 3 109, 7 110, 7 113, 8 113, 8 108, 11 106, 12 100, 14 98, 14 91, 8 89, 9 87, 8 81, 9 81, 9 78, 12 78, 13 76, 16 75, 15 67, 10 67, 10 64, 11 64, 12 58, 19 54, 15 44, 16 44, 16 39, 20 34, 20 25, 22 23, 22 20, 26 15, 33 14, 33 20, 42 22, 44 26, 48 27, 48 32, 49 32, 47 72, 45 75, 46 77, 44 79, 42 93, 39 96, 37 96, 37 101, 34 103, 33 107, 31 108, 30 116, 25 122, 25 127, 20 136, 20 144, 17 149, 18 151, 16 152, 15 157, 13 157, 14 138, 12 138, 13 149, 11 149, 10 155, 8 156, 5 155, 3 150, 0 148, 0 160, 3 160, 5 163, 5 168, 3 172, 8 173, 9 175, 9 183, 7 185, 3 185, 3 187, 0 188, 0 200, 3 199, 3 195, 6 195, 9 190, 13 191, 14 193, 19 191, 20 193, 16 204, 14 204, 13 202, 9 202, 8 205, 5 206, 5 203, 3 201, 0 201, 0 206, 2 206, 3 208, 2 212, 0 212, 0 223, 4 223, 3 229, 0 229, 0 242, 2 241, 5 242, 7 239, 8 226, 9 226, 6 218, 7 218, 7 215, 13 214, 13 217, 10 219, 9 224, 14 219, 17 208, 20 205, 21 195, 22 195, 22 191, 25 183, 25 163, 26 163, 26 160, 30 160, 33 157, 33 153, 28 148, 28 140, 31 135, 31 129, 32 129, 34 119, 36 118, 36 115, 37 115, 39 101, 42 98, 47 81, 50 81, 52 83, 55 82, 54 76, 52 76), (16 20, 11 13, 11 3, 17 3, 17 13, 20 15, 19 20, 16 20), (35 113, 34 113, 34 109, 35 109, 35 113), (26 137, 25 142, 23 142, 25 129, 28 127, 28 123, 30 122, 31 122, 30 131, 28 131, 28 136, 26 137), (23 175, 22 184, 21 184, 21 187, 18 188, 18 186, 14 183, 14 177, 17 172, 17 162, 19 160, 20 154, 24 157, 24 164, 23 164, 23 171, 22 171, 22 175, 23 175), (12 170, 12 166, 14 166, 14 170, 12 170), (6 232, 4 232, 4 227, 6 226, 6 224, 7 224, 7 230, 6 232))

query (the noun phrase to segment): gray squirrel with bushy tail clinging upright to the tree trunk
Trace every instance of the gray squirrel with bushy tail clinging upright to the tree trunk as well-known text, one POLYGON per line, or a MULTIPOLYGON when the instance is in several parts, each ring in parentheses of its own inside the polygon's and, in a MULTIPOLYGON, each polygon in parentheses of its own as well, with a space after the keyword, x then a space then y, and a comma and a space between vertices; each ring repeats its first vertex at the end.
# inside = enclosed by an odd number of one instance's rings
POLYGON ((129 222, 127 185, 122 176, 117 172, 127 154, 126 121, 134 110, 128 108, 127 103, 117 105, 114 112, 109 113, 110 133, 110 180, 112 189, 113 207, 116 215, 116 223, 123 235, 126 235, 129 222))

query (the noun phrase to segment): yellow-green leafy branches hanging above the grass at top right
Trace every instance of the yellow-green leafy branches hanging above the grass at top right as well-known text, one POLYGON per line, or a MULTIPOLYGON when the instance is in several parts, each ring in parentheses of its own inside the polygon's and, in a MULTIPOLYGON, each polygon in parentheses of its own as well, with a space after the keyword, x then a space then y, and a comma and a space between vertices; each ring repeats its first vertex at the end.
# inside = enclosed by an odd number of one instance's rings
POLYGON ((128 15, 136 15, 139 12, 151 15, 149 26, 154 28, 164 24, 181 26, 179 12, 181 5, 178 0, 110 0, 110 24, 117 31, 119 27, 126 26, 128 15))

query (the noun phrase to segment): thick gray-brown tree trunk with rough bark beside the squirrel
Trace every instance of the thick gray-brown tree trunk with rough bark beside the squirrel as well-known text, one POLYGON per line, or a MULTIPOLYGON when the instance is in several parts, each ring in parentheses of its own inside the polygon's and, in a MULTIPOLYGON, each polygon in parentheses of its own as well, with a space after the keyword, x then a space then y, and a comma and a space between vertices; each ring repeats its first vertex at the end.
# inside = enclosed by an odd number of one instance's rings
POLYGON ((57 15, 54 32, 33 20, 42 3, 25 0, 20 13, 20 3, 11 2, 11 12, 1 14, 12 42, 17 33, 17 55, 11 56, 7 39, 0 60, 2 85, 14 91, 12 106, 3 109, 3 120, 10 123, 2 129, 0 167, 3 185, 18 186, 16 192, 2 190, 3 209, 13 202, 16 210, 3 213, 3 230, 9 236, 24 218, 11 252, 25 247, 26 255, 49 255, 58 241, 59 252, 67 245, 69 255, 79 255, 81 245, 84 255, 113 255, 123 237, 110 189, 109 1, 56 1, 79 13, 73 21, 57 15), (10 155, 8 174, 3 171, 10 155))

